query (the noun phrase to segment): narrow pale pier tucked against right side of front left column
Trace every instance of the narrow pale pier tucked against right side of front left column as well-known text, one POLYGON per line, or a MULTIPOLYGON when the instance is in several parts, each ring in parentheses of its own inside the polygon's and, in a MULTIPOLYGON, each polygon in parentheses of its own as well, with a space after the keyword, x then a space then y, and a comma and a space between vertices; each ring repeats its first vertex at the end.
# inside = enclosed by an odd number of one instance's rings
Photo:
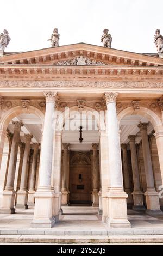
POLYGON ((54 159, 53 159, 53 187, 54 187, 54 203, 53 203, 53 214, 55 216, 55 222, 59 221, 59 213, 61 211, 60 205, 60 175, 61 175, 61 149, 62 149, 62 131, 55 132, 55 148, 54 148, 54 159))

